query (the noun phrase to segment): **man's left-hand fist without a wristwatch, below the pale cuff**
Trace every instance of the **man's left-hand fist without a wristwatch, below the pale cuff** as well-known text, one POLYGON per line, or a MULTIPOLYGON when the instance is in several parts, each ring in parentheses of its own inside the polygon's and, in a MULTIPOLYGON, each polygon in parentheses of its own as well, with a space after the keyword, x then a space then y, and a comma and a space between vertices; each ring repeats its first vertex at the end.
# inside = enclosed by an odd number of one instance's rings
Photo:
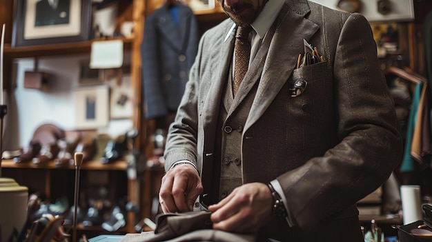
POLYGON ((201 178, 193 165, 177 165, 166 172, 159 190, 161 208, 166 212, 188 212, 203 192, 201 178))

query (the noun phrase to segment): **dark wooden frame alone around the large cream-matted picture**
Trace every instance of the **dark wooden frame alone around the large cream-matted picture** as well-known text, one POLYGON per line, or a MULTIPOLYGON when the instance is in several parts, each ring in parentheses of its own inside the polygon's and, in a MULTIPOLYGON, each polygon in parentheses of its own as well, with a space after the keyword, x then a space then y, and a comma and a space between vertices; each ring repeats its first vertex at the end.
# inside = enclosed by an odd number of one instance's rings
POLYGON ((71 0, 71 3, 72 1, 81 1, 80 19, 72 19, 72 21, 79 21, 79 26, 80 26, 79 34, 72 35, 72 36, 63 36, 63 37, 24 39, 24 23, 26 21, 26 14, 27 14, 26 3, 28 1, 29 0, 14 1, 12 47, 79 42, 79 41, 87 41, 90 38, 92 1, 91 0, 71 0))

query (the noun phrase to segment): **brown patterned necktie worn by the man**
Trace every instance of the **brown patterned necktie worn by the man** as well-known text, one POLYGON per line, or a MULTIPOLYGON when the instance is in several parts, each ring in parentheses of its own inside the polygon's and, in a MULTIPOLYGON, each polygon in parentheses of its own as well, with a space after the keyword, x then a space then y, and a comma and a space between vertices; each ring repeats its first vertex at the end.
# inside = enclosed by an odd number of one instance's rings
POLYGON ((252 27, 245 26, 237 28, 235 34, 235 66, 233 80, 233 94, 239 90, 240 83, 244 79, 244 75, 248 71, 249 57, 251 56, 251 43, 249 43, 249 32, 252 27))

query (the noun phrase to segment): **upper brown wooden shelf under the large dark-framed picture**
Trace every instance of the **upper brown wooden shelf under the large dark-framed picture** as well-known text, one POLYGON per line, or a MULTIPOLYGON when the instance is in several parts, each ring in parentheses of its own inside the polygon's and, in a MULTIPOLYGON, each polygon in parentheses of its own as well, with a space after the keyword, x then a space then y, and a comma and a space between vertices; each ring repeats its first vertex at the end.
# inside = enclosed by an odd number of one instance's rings
MULTIPOLYGON (((130 50, 132 48, 133 38, 119 38, 124 42, 124 49, 130 50)), ((22 46, 12 48, 10 44, 5 43, 4 54, 9 58, 23 58, 23 57, 46 57, 56 55, 68 54, 88 54, 90 53, 93 42, 96 41, 109 41, 117 39, 94 39, 91 41, 73 42, 73 43, 59 43, 53 45, 41 46, 22 46)))

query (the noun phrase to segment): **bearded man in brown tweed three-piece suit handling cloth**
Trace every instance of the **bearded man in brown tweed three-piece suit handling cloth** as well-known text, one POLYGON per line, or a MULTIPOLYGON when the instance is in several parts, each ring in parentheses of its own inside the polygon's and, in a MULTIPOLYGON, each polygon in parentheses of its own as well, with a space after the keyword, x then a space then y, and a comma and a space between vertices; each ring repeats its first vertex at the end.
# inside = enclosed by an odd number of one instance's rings
POLYGON ((216 230, 363 241, 356 202, 402 157, 368 21, 306 0, 219 3, 230 19, 200 41, 168 134, 161 208, 188 211, 199 196, 216 230), (234 95, 235 32, 248 25, 234 95), (309 45, 320 58, 297 64, 309 45))

